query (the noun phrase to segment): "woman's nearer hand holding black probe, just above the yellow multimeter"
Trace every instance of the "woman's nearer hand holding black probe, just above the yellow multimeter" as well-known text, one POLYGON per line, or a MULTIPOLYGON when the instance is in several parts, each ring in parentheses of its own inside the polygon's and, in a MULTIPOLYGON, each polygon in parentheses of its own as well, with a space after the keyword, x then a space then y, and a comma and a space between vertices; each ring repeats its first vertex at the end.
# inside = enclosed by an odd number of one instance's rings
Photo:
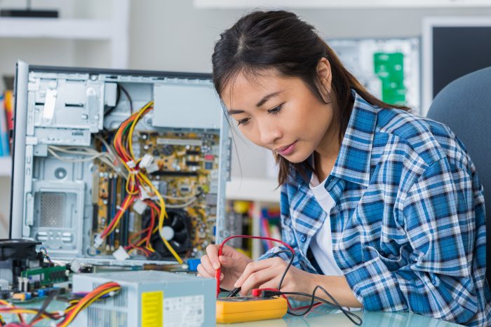
MULTIPOLYGON (((247 295, 253 288, 278 288, 287 265, 288 263, 279 257, 249 263, 234 287, 241 287, 241 295, 247 295)), ((283 279, 281 291, 312 293, 315 279, 316 274, 291 266, 283 279)), ((307 300, 304 296, 293 298, 307 300)))

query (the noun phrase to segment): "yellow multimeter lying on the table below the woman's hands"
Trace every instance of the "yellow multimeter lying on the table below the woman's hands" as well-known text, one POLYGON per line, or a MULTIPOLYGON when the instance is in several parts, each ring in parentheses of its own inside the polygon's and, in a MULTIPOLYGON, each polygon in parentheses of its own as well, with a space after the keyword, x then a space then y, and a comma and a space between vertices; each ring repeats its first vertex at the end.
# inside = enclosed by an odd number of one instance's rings
POLYGON ((217 298, 217 323, 278 319, 286 314, 287 309, 286 299, 279 297, 217 298))

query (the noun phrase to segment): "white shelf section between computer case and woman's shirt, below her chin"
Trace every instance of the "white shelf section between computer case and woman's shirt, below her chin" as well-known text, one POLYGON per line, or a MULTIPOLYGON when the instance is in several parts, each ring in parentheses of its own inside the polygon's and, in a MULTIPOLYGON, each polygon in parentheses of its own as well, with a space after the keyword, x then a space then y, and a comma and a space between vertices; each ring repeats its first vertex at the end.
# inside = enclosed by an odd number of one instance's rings
POLYGON ((233 179, 227 182, 227 200, 280 202, 278 182, 271 179, 233 179))

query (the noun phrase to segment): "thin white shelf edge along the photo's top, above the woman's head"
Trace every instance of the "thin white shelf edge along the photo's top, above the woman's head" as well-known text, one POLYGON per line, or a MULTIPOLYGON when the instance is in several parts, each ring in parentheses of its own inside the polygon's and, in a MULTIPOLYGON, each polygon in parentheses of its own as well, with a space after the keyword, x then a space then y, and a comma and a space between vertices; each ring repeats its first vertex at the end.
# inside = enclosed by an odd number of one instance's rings
MULTIPOLYGON (((257 8, 264 0, 194 0, 196 8, 257 8)), ((269 7, 289 8, 459 8, 491 7, 489 0, 273 0, 269 7)))

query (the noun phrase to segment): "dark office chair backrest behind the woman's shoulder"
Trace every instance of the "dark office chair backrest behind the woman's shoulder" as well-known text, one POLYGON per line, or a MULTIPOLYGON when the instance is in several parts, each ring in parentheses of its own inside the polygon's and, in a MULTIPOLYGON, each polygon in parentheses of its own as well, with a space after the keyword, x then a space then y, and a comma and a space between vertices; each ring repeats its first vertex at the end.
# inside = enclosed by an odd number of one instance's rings
POLYGON ((486 277, 491 285, 491 67, 445 86, 431 103, 427 117, 448 125, 464 142, 476 165, 484 187, 486 277))

